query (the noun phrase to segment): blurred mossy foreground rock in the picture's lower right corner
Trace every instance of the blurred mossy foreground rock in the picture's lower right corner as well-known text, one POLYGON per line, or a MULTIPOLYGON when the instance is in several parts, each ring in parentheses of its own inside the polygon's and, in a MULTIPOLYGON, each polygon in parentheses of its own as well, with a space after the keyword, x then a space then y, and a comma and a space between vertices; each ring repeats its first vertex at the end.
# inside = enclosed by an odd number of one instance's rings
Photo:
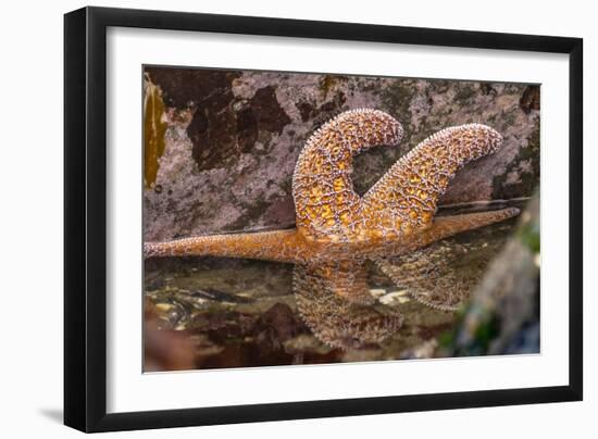
POLYGON ((493 261, 443 354, 539 352, 539 198, 521 215, 518 231, 493 261))

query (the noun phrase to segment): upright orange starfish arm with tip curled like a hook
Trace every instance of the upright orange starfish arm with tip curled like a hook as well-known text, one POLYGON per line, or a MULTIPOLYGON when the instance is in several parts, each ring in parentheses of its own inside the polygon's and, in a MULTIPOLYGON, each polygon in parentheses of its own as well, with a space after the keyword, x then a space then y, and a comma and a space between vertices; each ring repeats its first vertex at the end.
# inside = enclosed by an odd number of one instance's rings
POLYGON ((352 156, 377 145, 397 145, 401 125, 377 110, 339 114, 307 141, 292 176, 297 228, 313 239, 346 241, 361 224, 361 198, 351 180, 352 156))

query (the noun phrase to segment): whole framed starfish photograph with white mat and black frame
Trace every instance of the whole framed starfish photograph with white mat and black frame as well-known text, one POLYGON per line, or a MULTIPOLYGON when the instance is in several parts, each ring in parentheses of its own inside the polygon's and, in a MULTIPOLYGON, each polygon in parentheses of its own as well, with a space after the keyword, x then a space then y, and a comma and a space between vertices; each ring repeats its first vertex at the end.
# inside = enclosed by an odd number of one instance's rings
POLYGON ((582 39, 64 29, 66 425, 582 399, 582 39))

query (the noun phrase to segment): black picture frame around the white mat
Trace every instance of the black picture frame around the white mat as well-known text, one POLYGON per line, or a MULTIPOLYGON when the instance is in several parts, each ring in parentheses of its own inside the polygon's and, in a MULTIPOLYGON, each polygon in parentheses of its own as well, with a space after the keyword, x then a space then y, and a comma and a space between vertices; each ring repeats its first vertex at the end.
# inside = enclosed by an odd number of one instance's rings
POLYGON ((64 423, 91 432, 582 400, 582 66, 580 38, 104 8, 65 14, 64 423), (109 26, 569 54, 569 385, 108 414, 109 26))

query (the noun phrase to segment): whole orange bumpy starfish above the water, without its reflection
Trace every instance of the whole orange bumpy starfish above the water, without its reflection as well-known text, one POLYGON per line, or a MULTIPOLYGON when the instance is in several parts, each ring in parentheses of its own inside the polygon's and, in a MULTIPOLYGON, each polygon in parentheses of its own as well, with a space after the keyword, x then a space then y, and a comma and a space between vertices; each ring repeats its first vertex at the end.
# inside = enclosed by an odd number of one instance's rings
POLYGON ((307 142, 294 174, 297 228, 211 235, 145 243, 145 255, 213 255, 310 263, 413 251, 460 231, 518 214, 516 209, 433 220, 448 181, 466 162, 491 153, 501 136, 478 124, 448 128, 400 159, 360 199, 352 155, 396 143, 400 124, 375 110, 338 115, 307 142), (360 147, 361 146, 361 147, 360 147))

